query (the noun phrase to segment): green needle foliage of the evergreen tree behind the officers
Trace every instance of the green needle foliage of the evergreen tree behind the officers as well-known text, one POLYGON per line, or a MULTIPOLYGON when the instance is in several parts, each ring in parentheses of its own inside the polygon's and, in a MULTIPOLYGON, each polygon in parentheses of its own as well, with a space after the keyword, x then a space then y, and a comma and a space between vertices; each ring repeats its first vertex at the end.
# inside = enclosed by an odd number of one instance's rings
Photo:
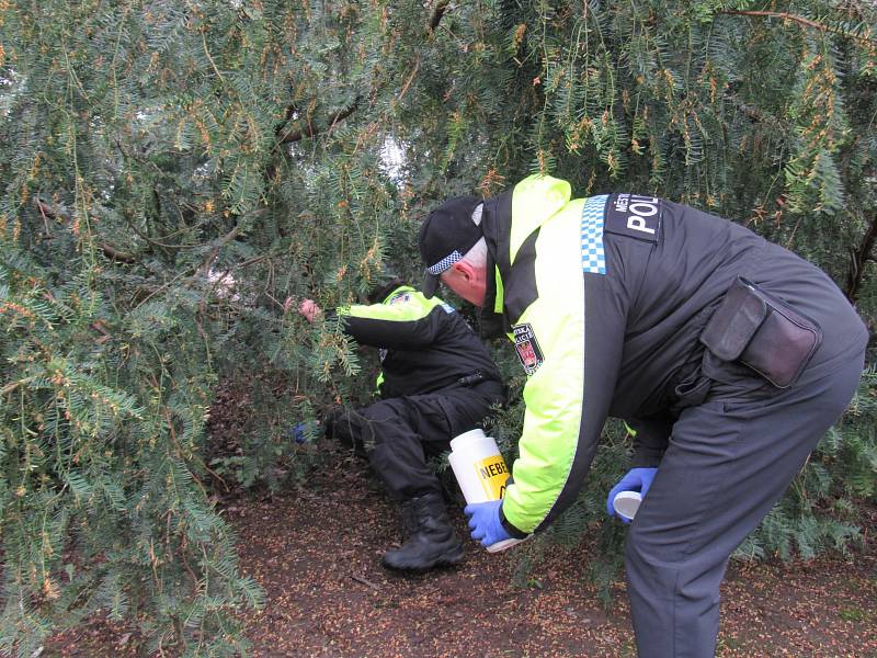
MULTIPOLYGON (((373 368, 295 308, 417 275, 449 195, 542 171, 682 201, 812 260, 873 327, 875 26, 865 1, 0 0, 0 653, 99 611, 149 651, 246 649, 261 593, 214 487, 306 483, 285 429, 316 438, 373 368), (229 381, 248 406, 217 453, 229 381)), ((875 390, 743 554, 856 536, 875 390)), ((553 535, 608 554, 613 432, 553 535)))

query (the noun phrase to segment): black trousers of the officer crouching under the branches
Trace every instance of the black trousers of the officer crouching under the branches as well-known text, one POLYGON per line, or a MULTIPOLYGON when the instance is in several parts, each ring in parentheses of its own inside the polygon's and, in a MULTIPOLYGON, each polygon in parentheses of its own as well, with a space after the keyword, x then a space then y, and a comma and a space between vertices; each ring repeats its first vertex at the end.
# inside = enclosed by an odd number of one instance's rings
POLYGON ((498 382, 402 396, 348 411, 333 421, 333 435, 364 451, 396 500, 442 491, 428 461, 451 450, 451 440, 477 427, 502 401, 498 382))

